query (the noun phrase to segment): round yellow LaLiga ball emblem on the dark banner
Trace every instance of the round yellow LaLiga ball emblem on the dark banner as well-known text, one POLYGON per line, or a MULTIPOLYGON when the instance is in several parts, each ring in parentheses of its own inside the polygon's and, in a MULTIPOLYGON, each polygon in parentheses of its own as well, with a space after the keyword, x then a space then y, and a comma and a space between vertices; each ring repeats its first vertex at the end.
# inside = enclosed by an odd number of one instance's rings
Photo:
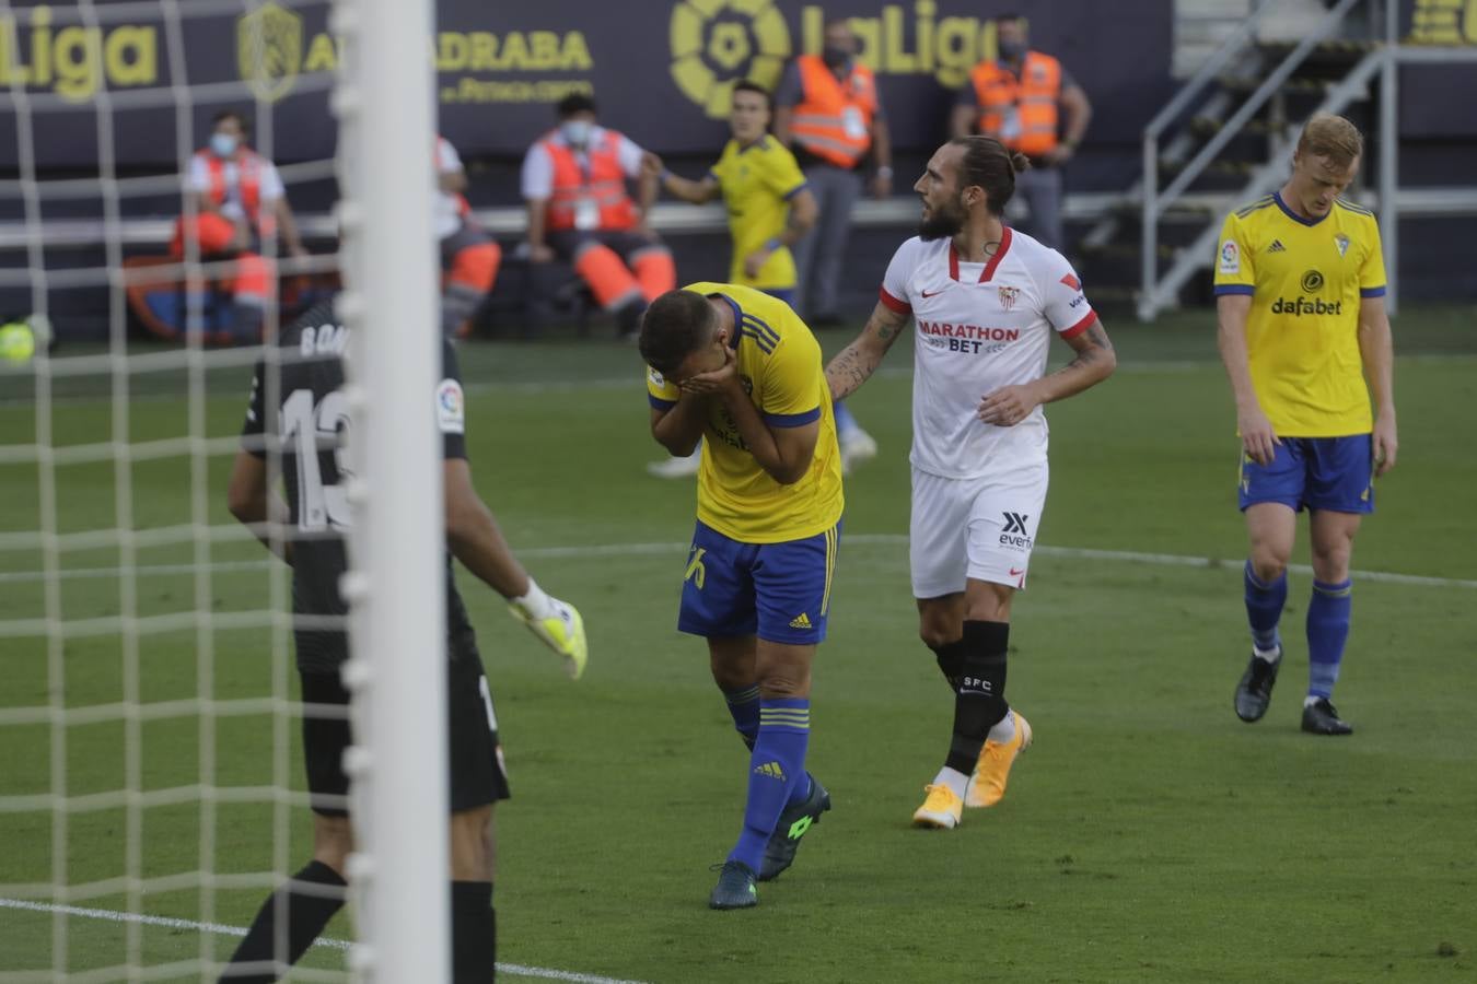
POLYGON ((790 30, 771 0, 684 0, 672 7, 672 80, 713 119, 728 117, 734 83, 772 89, 790 30))

